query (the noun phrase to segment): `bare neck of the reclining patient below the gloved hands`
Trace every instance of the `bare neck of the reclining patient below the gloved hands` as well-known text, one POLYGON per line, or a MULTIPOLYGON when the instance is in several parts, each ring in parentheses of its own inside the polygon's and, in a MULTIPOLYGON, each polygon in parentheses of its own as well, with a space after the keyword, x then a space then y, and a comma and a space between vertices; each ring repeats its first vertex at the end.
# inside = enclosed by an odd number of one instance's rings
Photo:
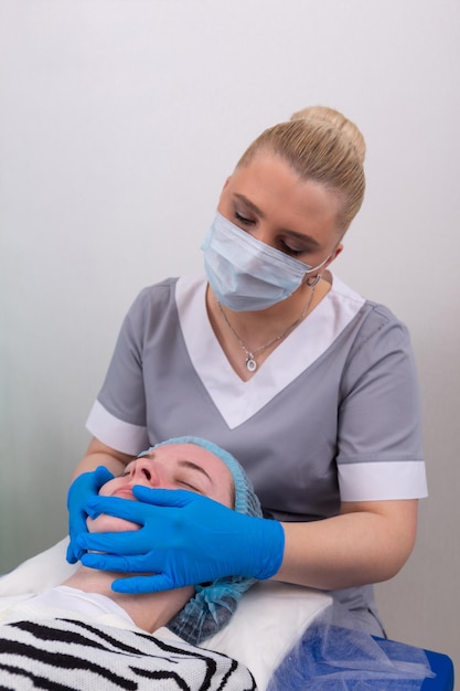
POLYGON ((97 571, 81 565, 69 578, 64 581, 63 585, 85 593, 106 595, 125 609, 136 626, 149 632, 167 625, 194 594, 193 586, 164 591, 163 593, 139 593, 136 595, 115 593, 110 587, 111 583, 122 575, 126 574, 97 571))

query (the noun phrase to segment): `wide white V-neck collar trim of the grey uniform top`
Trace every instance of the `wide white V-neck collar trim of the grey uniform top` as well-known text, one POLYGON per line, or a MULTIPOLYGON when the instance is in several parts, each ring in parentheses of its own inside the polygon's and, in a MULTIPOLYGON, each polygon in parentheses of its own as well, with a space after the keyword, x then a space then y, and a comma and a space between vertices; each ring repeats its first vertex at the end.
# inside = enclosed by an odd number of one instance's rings
POLYGON ((204 277, 179 278, 175 301, 192 364, 231 429, 249 419, 318 360, 365 301, 334 278, 331 290, 308 319, 244 382, 229 364, 211 327, 206 285, 204 277))

